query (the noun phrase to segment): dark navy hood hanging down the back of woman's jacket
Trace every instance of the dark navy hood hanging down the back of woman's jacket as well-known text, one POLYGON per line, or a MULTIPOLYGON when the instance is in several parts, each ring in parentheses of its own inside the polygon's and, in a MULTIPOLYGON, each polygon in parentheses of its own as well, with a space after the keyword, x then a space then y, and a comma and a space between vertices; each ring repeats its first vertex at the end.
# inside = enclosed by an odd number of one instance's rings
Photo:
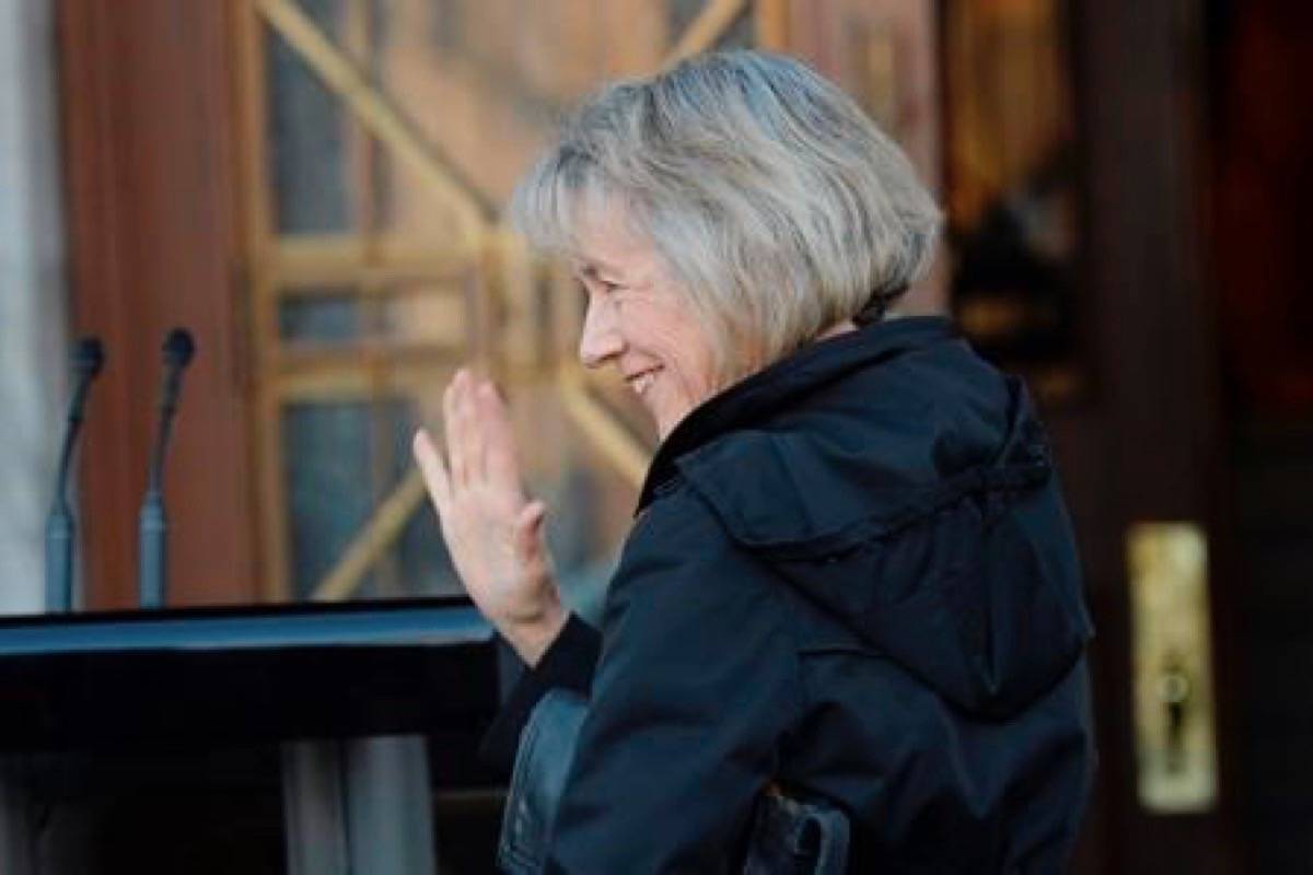
POLYGON ((676 479, 742 548, 972 714, 1024 708, 1091 635, 1031 400, 947 320, 880 323, 737 384, 671 434, 643 501, 676 479))

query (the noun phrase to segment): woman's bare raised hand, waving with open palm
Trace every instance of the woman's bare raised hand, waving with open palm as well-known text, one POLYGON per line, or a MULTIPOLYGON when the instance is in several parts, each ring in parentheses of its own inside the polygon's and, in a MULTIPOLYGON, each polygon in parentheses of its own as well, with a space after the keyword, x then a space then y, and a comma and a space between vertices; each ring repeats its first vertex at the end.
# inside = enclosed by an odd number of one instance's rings
POLYGON ((414 450, 448 552, 479 611, 534 665, 566 619, 542 537, 546 508, 524 493, 511 420, 492 383, 458 370, 442 415, 446 459, 424 429, 414 450))

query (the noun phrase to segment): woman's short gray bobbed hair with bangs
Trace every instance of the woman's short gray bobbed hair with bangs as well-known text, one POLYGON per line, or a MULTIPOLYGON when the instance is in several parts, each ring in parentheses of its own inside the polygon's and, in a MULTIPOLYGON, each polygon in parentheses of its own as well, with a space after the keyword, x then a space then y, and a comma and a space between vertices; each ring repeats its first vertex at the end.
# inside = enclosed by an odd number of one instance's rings
POLYGON ((616 202, 713 328, 737 379, 892 300, 927 270, 940 211, 898 146, 806 64, 716 52, 607 85, 520 182, 529 241, 576 254, 616 202))

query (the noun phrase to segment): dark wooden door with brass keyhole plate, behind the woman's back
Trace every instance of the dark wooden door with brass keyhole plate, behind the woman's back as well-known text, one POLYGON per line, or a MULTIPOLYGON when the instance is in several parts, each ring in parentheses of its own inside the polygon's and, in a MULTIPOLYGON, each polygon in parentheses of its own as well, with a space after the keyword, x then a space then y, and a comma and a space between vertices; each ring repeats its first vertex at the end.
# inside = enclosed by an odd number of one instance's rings
POLYGON ((1098 627, 1100 766, 1077 871, 1238 871, 1201 9, 941 14, 952 306, 1041 400, 1098 627), (1187 556, 1171 580, 1197 609, 1166 622, 1145 609, 1166 579, 1145 556, 1163 551, 1187 556))

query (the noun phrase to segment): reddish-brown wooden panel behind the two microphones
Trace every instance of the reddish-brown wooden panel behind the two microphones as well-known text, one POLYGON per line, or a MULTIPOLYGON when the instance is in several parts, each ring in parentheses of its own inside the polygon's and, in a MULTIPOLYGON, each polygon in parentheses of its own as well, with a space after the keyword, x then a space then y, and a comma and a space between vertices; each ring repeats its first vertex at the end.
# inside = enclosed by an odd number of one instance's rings
POLYGON ((135 603, 137 510, 173 325, 198 354, 165 472, 173 603, 256 597, 227 3, 63 0, 75 331, 108 348, 81 460, 85 603, 135 603))

